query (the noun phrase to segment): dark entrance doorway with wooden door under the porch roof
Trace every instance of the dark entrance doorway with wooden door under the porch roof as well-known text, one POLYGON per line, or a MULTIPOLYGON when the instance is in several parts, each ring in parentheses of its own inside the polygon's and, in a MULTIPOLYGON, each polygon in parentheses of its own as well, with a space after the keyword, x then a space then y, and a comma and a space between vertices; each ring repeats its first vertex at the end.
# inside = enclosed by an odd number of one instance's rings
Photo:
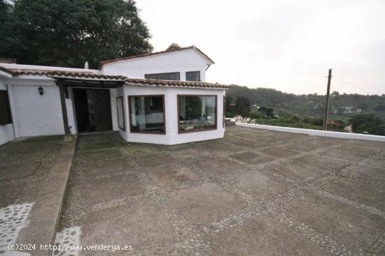
POLYGON ((78 133, 112 130, 109 89, 73 89, 78 133))

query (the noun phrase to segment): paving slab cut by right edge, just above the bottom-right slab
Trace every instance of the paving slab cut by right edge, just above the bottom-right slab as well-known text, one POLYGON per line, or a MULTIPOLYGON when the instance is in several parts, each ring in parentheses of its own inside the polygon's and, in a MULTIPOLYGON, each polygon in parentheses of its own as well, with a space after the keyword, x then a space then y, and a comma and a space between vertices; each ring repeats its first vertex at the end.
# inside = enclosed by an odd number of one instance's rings
POLYGON ((326 184, 323 189, 385 211, 385 185, 340 178, 326 184))

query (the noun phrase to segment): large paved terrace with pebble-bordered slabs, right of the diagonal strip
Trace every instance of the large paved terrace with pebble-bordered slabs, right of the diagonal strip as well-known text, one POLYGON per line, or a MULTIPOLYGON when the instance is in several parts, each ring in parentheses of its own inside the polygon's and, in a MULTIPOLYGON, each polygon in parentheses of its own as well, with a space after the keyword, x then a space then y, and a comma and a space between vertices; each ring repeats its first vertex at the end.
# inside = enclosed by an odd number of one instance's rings
POLYGON ((235 126, 176 146, 80 136, 58 243, 133 246, 111 255, 385 255, 384 152, 235 126))

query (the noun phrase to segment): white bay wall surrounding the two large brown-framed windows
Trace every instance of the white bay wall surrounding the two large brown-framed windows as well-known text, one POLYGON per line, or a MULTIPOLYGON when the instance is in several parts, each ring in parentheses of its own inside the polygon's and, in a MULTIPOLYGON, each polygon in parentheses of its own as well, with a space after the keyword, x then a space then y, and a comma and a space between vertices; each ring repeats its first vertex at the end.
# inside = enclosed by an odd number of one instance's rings
MULTIPOLYGON (((213 140, 223 137, 225 128, 223 128, 223 96, 225 90, 218 89, 191 89, 191 88, 170 88, 155 86, 124 86, 125 101, 125 123, 126 133, 123 135, 128 142, 146 142, 154 144, 181 144, 186 142, 196 142, 201 140, 213 140), (166 134, 149 133, 130 133, 130 116, 128 109, 128 96, 141 95, 165 95, 165 120, 166 134), (196 95, 216 95, 217 96, 217 129, 203 130, 193 133, 178 133, 178 106, 177 95, 196 94, 196 95)), ((121 133, 122 134, 122 133, 121 133)))

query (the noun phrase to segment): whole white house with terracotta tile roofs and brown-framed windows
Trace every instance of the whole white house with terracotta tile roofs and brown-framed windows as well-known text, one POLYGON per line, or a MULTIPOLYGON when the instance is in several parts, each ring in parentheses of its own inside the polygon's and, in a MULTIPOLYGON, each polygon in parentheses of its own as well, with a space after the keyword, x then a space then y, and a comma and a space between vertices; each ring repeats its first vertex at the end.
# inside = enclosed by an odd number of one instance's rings
POLYGON ((128 142, 223 137, 227 85, 195 46, 102 61, 101 70, 0 63, 0 144, 17 137, 119 131, 128 142))

